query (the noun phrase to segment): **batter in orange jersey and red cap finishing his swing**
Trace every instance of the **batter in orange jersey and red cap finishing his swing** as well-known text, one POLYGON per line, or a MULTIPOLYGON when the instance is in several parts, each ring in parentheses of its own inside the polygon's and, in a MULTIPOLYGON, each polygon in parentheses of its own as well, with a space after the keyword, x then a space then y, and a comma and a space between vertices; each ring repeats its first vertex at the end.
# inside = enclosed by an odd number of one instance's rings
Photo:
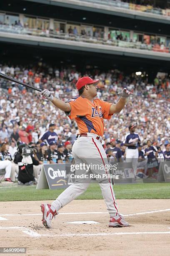
MULTIPOLYGON (((108 164, 105 150, 102 147, 102 136, 104 132, 103 121, 104 119, 109 120, 114 113, 119 113, 122 108, 124 108, 126 99, 133 94, 124 88, 122 92, 119 92, 121 97, 115 105, 96 99, 94 97, 97 95, 98 82, 98 80, 92 80, 90 77, 80 78, 76 83, 79 96, 68 102, 63 102, 53 97, 51 92, 46 89, 41 92, 41 95, 50 100, 57 108, 65 111, 70 120, 75 119, 77 122, 79 134, 72 146, 72 156, 74 157, 75 164, 79 166, 83 163, 90 164, 91 160, 93 160, 94 165, 105 166, 108 164)), ((106 168, 102 168, 102 170, 98 169, 97 172, 93 168, 91 172, 95 174, 108 174, 106 168)), ((85 170, 85 174, 86 173, 85 170)), ((75 174, 80 174, 80 170, 76 170, 75 174)), ((101 178, 99 185, 107 206, 107 211, 110 214, 109 226, 129 226, 118 211, 110 178, 101 178)), ((85 183, 84 179, 77 179, 74 184, 67 187, 67 189, 52 202, 52 205, 42 204, 43 225, 46 228, 50 228, 51 220, 57 214, 57 211, 85 192, 88 186, 89 182, 85 183)))

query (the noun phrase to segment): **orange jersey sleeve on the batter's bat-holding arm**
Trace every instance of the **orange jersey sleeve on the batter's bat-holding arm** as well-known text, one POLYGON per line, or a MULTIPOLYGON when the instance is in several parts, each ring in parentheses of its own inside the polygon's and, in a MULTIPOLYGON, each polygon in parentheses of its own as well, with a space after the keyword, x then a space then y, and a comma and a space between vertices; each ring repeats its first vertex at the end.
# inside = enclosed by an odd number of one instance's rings
POLYGON ((85 115, 86 109, 80 100, 71 99, 71 100, 68 100, 67 102, 70 103, 71 111, 69 113, 65 112, 65 114, 70 118, 70 120, 76 118, 77 115, 80 115, 80 116, 85 115))

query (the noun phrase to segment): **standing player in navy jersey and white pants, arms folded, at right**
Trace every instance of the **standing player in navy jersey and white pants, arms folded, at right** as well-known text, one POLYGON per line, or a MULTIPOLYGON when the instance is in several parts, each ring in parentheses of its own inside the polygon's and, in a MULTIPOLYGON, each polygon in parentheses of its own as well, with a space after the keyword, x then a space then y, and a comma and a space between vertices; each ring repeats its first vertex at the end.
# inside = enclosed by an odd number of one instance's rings
POLYGON ((130 133, 125 138, 125 146, 128 148, 126 149, 126 162, 132 163, 133 171, 136 176, 137 166, 138 166, 138 143, 140 142, 139 135, 135 132, 136 124, 129 126, 130 133))

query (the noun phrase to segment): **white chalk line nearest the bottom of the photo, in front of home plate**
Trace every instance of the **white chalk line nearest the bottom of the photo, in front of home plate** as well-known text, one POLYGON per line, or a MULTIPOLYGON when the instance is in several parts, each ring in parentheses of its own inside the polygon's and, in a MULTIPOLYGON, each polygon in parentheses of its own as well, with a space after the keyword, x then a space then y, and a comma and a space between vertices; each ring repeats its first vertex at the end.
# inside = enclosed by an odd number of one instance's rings
POLYGON ((0 227, 0 229, 18 229, 23 233, 27 234, 31 237, 74 237, 74 236, 122 236, 122 235, 159 235, 159 234, 170 234, 170 231, 164 232, 118 232, 118 233, 96 233, 96 234, 89 234, 89 233, 66 233, 66 234, 58 234, 58 235, 51 235, 51 234, 38 234, 37 232, 30 230, 24 227, 0 227))

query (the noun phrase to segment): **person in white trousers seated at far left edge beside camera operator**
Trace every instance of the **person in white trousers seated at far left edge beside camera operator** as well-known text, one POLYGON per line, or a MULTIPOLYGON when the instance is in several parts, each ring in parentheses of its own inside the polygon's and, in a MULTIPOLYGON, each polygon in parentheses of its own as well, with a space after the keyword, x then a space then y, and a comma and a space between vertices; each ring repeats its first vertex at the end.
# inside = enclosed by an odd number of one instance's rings
POLYGON ((0 151, 2 153, 4 160, 11 161, 12 169, 11 169, 10 179, 13 182, 15 182, 15 177, 18 177, 18 165, 13 163, 12 156, 8 150, 9 150, 9 144, 7 142, 2 143, 0 151))

